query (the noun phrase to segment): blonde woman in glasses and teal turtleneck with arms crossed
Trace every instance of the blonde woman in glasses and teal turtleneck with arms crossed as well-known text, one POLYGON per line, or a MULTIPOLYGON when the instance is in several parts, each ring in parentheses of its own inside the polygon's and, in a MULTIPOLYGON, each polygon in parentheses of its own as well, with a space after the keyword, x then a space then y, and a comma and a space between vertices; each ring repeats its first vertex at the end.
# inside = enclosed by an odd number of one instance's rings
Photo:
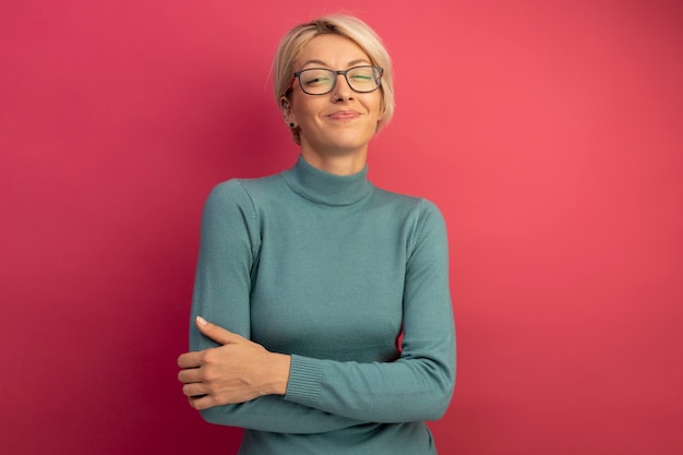
POLYGON ((446 229, 367 178, 390 57, 361 21, 326 16, 285 36, 274 77, 300 156, 207 199, 183 393, 244 428, 242 455, 434 454, 424 420, 455 381, 446 229))

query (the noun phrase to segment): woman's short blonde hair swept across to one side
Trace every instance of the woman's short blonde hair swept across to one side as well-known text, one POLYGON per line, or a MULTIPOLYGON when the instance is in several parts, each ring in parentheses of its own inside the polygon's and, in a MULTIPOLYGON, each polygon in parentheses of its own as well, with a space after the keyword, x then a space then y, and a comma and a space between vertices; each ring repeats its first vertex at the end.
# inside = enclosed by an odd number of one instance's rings
MULTIPOLYGON (((289 98, 288 88, 293 76, 293 62, 303 46, 320 35, 340 35, 356 43, 370 58, 373 65, 384 70, 380 91, 382 94, 382 107, 378 123, 378 131, 388 123, 394 115, 394 72, 392 60, 382 43, 382 39, 368 24, 349 15, 326 15, 309 23, 293 27, 283 37, 277 47, 273 60, 273 83, 275 99, 281 107, 283 96, 289 98)), ((299 128, 291 130, 293 140, 300 144, 299 128)))

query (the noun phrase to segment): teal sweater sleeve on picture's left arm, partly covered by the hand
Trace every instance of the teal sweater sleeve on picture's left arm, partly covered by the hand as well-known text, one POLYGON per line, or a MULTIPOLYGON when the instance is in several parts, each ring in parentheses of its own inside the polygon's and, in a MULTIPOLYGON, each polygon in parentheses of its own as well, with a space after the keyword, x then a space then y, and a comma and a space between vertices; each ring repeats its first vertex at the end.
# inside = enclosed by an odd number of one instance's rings
MULTIPOLYGON (((197 314, 250 338, 251 272, 257 261, 259 246, 256 212, 241 183, 230 180, 214 188, 202 213, 190 350, 217 346, 194 325, 197 314)), ((320 433, 362 423, 281 396, 217 406, 201 414, 212 423, 283 433, 320 433)))

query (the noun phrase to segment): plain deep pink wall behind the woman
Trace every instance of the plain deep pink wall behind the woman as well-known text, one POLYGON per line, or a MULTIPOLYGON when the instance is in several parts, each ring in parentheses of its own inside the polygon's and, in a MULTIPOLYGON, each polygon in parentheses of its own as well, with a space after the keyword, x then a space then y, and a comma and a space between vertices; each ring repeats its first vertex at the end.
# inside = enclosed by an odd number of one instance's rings
MULTIPOLYGON (((200 211, 293 163, 267 71, 336 2, 0 5, 2 454, 233 453, 176 382, 200 211)), ((385 38, 381 187, 451 234, 443 454, 683 452, 679 1, 347 1, 385 38)))

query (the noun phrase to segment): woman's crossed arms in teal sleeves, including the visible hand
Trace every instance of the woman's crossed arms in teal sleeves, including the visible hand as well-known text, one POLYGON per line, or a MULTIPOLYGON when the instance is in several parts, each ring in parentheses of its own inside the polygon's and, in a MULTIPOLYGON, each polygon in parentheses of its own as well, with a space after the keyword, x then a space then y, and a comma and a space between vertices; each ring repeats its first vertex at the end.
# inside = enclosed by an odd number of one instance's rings
POLYGON ((193 313, 215 324, 197 319, 190 336, 194 351, 178 359, 190 405, 209 422, 283 433, 441 417, 453 392, 455 339, 438 211, 428 206, 420 216, 407 267, 400 358, 335 361, 271 352, 248 339, 250 258, 259 229, 243 191, 235 184, 220 190, 204 212, 193 299, 193 313))

